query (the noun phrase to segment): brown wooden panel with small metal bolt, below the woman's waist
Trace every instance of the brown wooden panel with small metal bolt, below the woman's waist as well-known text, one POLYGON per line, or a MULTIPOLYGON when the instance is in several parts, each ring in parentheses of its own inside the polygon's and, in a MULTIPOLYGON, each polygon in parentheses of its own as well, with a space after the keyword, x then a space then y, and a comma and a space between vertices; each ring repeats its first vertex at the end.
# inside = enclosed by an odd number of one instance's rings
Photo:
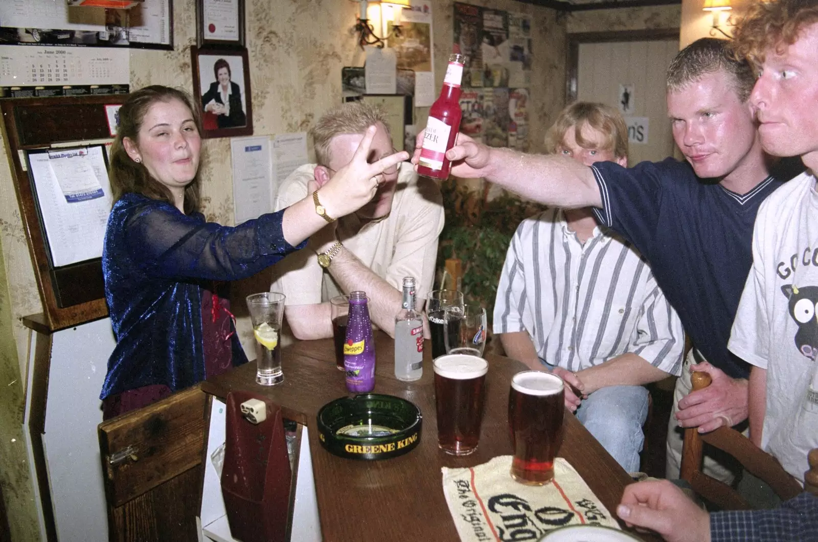
POLYGON ((194 386, 99 425, 109 540, 197 540, 206 405, 194 386))

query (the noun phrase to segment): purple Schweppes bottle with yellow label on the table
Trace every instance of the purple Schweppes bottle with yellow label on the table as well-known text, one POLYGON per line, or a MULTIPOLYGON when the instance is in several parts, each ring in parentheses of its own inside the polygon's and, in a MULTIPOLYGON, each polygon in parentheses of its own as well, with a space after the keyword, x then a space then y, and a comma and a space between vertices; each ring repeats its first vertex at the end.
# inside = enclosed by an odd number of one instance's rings
POLYGON ((365 393, 375 387, 375 341, 372 338, 372 323, 366 306, 365 291, 353 291, 349 294, 344 371, 349 391, 365 393))

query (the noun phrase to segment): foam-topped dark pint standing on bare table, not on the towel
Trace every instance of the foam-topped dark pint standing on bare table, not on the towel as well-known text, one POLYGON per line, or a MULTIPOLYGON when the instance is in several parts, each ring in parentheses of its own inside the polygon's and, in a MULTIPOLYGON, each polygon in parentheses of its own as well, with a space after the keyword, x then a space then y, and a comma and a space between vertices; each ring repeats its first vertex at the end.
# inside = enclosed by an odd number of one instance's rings
POLYGON ((474 355, 442 355, 434 360, 434 402, 438 446, 447 454, 477 449, 483 421, 488 363, 474 355))

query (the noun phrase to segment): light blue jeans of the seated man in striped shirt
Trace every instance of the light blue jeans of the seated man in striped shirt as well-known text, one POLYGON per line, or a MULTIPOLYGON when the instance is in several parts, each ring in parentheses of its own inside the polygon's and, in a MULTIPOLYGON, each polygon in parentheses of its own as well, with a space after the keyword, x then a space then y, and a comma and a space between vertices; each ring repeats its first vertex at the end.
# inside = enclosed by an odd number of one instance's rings
POLYGON ((643 386, 600 388, 577 409, 579 422, 626 472, 639 471, 639 452, 645 442, 642 424, 647 416, 648 391, 643 386))

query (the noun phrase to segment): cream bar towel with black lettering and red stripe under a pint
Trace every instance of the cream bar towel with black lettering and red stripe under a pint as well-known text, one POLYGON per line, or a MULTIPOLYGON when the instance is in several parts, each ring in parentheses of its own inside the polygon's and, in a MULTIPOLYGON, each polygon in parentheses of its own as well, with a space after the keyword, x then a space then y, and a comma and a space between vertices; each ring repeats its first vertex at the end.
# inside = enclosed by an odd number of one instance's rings
POLYGON ((501 455, 477 467, 443 467, 443 493, 462 542, 538 540, 565 525, 619 529, 564 458, 554 462, 554 480, 524 486, 511 478, 511 456, 501 455))

